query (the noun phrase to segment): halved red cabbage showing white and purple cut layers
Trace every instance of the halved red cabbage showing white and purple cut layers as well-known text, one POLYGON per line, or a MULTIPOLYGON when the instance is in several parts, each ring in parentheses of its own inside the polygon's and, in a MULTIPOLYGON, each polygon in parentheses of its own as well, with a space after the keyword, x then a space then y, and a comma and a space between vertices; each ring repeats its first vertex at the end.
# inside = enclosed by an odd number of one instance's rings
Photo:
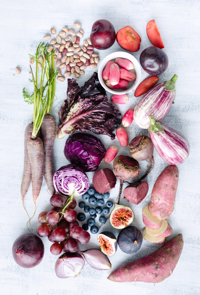
POLYGON ((78 166, 68 164, 60 167, 53 176, 56 192, 63 196, 71 196, 75 189, 74 197, 84 194, 90 187, 86 173, 78 166))

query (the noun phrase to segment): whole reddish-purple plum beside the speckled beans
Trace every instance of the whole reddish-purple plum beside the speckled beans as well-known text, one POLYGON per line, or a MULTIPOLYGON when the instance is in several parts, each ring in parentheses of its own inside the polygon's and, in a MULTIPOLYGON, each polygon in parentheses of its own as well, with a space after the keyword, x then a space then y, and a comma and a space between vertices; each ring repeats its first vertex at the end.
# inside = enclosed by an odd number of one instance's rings
POLYGON ((94 22, 90 34, 92 46, 96 49, 107 49, 114 44, 115 39, 116 33, 111 22, 106 19, 94 22))

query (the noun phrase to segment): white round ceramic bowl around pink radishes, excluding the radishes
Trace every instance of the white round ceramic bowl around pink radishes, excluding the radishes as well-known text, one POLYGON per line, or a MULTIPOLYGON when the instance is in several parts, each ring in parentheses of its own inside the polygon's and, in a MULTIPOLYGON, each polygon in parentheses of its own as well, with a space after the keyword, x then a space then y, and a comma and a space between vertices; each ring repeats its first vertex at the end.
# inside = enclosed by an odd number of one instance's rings
POLYGON ((104 89, 106 91, 108 91, 112 94, 127 94, 127 93, 133 91, 133 89, 135 89, 138 86, 138 84, 140 83, 140 78, 141 78, 140 63, 137 61, 137 59, 133 55, 131 55, 128 52, 123 52, 123 51, 113 52, 113 53, 107 55, 99 64, 98 77, 99 77, 99 82, 101 83, 101 85, 104 87, 104 89), (129 87, 127 89, 111 89, 106 85, 106 81, 102 78, 102 72, 106 66, 106 63, 109 60, 115 61, 115 59, 118 57, 126 58, 126 59, 130 60, 134 65, 134 69, 130 70, 130 71, 136 75, 136 79, 133 82, 129 82, 129 87))

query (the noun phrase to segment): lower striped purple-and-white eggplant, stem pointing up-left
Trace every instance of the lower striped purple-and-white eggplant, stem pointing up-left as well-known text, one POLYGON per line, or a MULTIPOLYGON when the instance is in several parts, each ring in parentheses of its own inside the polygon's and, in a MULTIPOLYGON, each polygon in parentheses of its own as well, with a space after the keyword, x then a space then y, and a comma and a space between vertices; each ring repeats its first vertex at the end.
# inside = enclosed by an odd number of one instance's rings
POLYGON ((189 156, 190 145, 182 133, 156 122, 150 117, 149 135, 158 155, 171 165, 185 162, 189 156))

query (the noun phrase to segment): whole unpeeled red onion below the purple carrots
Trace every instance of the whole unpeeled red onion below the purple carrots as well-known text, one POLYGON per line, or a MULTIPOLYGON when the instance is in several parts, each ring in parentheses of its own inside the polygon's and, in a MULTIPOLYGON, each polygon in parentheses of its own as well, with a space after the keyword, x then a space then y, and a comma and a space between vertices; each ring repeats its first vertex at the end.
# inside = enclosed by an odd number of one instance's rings
POLYGON ((12 255, 17 264, 24 268, 38 265, 44 256, 44 244, 33 234, 19 236, 12 245, 12 255))

